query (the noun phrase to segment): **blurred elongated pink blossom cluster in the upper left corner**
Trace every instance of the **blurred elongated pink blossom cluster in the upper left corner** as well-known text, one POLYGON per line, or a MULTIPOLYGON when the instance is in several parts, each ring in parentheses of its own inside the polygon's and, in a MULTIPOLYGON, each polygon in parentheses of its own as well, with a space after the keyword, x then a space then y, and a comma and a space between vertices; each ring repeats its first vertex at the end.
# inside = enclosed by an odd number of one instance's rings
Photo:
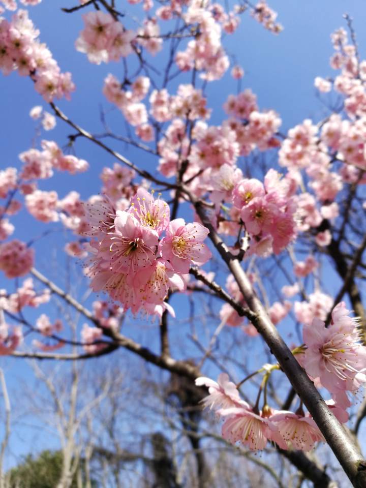
POLYGON ((8 75, 17 71, 31 76, 36 91, 46 102, 70 99, 75 85, 71 73, 62 73, 46 45, 38 40, 39 31, 26 10, 18 10, 9 22, 0 17, 0 70, 8 75))

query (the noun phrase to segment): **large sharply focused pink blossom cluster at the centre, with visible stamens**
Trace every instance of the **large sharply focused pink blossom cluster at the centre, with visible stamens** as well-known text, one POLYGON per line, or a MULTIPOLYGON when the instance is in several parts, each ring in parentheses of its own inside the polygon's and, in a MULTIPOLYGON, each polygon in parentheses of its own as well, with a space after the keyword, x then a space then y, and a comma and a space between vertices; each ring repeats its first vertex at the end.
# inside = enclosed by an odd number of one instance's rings
POLYGON ((94 255, 87 270, 90 286, 134 314, 161 316, 171 310, 165 301, 169 290, 184 290, 190 265, 202 265, 211 256, 203 243, 208 230, 198 222, 170 221, 167 203, 143 188, 126 210, 104 199, 86 204, 85 214, 94 255))

